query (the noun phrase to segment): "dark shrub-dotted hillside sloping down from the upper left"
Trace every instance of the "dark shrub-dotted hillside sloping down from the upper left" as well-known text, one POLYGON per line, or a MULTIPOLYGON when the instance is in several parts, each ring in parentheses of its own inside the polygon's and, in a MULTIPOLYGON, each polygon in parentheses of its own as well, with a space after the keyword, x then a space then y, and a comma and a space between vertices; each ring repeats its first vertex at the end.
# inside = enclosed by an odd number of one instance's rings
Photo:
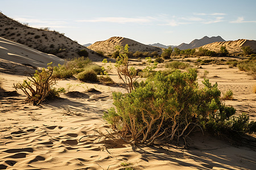
POLYGON ((97 55, 85 46, 64 36, 64 33, 46 29, 31 28, 21 24, 0 12, 0 37, 18 42, 44 53, 55 54, 61 58, 79 57, 77 51, 85 49, 89 58, 97 59, 97 55))

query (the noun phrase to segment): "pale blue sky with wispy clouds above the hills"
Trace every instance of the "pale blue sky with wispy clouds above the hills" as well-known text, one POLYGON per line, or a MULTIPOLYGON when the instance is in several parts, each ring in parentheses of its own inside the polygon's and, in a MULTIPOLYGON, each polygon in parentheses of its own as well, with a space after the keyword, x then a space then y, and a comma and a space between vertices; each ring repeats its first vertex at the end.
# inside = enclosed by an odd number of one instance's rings
POLYGON ((0 0, 3 14, 65 33, 80 44, 122 36, 143 44, 189 43, 204 36, 256 40, 256 1, 0 0))

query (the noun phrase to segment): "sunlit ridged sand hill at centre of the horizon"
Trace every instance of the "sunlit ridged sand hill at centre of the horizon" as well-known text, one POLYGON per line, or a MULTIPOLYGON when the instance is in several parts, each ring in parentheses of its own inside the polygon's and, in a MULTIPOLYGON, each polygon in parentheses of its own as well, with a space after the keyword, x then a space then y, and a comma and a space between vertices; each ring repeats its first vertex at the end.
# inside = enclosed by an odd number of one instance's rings
POLYGON ((145 45, 140 42, 127 39, 125 37, 111 37, 110 39, 105 41, 97 41, 94 44, 88 46, 88 48, 94 51, 100 50, 105 54, 111 54, 116 50, 115 49, 116 45, 125 46, 126 44, 130 46, 129 51, 133 53, 135 53, 138 50, 141 52, 154 52, 154 51, 162 52, 160 48, 150 46, 150 45, 145 45))

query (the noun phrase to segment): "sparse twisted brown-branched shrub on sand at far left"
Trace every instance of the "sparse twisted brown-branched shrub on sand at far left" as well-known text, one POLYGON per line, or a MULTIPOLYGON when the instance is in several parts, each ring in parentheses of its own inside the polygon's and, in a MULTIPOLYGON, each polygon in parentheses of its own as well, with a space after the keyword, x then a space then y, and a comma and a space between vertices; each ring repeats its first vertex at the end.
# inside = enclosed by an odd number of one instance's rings
POLYGON ((34 76, 23 80, 23 83, 14 84, 15 90, 22 90, 27 95, 27 101, 34 105, 39 105, 46 97, 54 98, 58 95, 58 92, 53 88, 56 84, 55 79, 52 79, 53 66, 52 62, 48 63, 47 69, 39 72, 35 71, 34 76), (53 96, 49 96, 53 95, 53 96))

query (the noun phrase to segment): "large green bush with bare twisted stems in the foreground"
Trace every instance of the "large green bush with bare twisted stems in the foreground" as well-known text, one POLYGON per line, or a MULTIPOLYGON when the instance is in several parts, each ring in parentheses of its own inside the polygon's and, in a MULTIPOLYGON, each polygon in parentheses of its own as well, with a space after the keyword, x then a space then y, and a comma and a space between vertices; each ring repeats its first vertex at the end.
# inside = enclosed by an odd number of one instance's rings
POLYGON ((188 73, 158 72, 140 83, 130 94, 113 93, 115 108, 104 113, 104 119, 135 144, 152 145, 157 139, 179 141, 191 131, 201 129, 215 134, 254 133, 256 123, 247 117, 232 117, 236 110, 220 100, 217 83, 205 79, 199 89, 195 69, 188 73))

